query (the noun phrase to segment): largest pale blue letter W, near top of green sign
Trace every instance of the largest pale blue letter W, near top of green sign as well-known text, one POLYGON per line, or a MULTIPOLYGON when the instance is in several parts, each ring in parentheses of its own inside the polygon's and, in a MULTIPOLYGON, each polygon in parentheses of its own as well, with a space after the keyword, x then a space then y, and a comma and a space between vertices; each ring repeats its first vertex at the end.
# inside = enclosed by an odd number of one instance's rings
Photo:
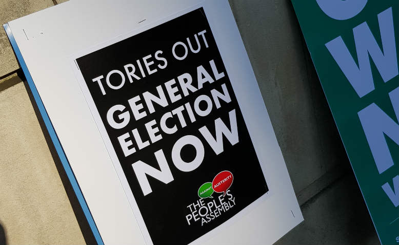
POLYGON ((388 82, 398 74, 392 8, 384 10, 377 16, 383 52, 366 22, 353 28, 358 67, 341 36, 326 43, 328 51, 361 98, 374 90, 369 55, 384 82, 388 82))

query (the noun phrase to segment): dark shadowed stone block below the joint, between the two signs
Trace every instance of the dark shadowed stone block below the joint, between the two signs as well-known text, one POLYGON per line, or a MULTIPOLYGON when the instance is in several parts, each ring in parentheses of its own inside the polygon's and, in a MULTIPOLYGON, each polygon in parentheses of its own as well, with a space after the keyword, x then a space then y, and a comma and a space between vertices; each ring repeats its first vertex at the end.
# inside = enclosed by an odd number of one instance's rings
POLYGON ((304 221, 275 244, 379 244, 353 173, 303 205, 304 221))

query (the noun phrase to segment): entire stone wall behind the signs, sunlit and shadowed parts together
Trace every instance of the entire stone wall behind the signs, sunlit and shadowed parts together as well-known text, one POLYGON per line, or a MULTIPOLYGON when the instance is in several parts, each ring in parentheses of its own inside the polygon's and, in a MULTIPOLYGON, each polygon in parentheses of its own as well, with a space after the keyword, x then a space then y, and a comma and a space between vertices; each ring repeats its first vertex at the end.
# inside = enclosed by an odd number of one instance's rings
MULTIPOLYGON (((0 0, 0 20, 4 24, 57 2, 0 0)), ((305 218, 277 244, 378 243, 291 2, 229 2, 305 218)), ((9 244, 82 243, 68 197, 22 86, 23 75, 3 32, 0 243, 4 241, 1 228, 9 244), (25 115, 24 120, 18 121, 21 115, 25 115), (34 192, 41 196, 45 193, 46 199, 32 195, 34 192), (63 211, 49 212, 48 207, 54 204, 62 206, 63 211)))

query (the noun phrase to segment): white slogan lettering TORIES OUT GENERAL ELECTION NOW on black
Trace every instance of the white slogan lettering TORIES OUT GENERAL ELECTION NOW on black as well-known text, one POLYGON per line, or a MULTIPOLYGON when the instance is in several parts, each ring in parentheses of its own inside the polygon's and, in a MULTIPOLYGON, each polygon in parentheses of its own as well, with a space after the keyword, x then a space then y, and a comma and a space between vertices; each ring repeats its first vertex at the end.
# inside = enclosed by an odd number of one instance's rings
MULTIPOLYGON (((171 47, 175 58, 174 62, 186 59, 189 52, 194 58, 196 53, 209 48, 211 43, 207 42, 205 34, 206 30, 203 30, 194 34, 194 39, 187 37, 185 42, 174 43, 171 47), (202 39, 198 36, 201 36, 202 39), (193 48, 193 40, 195 40, 194 47, 196 49, 193 48)), ((154 53, 154 59, 152 55, 147 55, 136 60, 135 65, 126 64, 124 71, 111 70, 106 75, 105 83, 104 76, 94 78, 92 81, 98 84, 99 91, 103 96, 109 96, 107 89, 121 89, 127 80, 134 86, 136 80, 149 76, 157 72, 158 69, 167 69, 168 61, 162 54, 163 51, 158 50, 154 53), (104 84, 107 84, 107 87, 104 84)), ((156 81, 157 83, 153 86, 149 82, 144 91, 129 88, 134 93, 131 98, 111 105, 106 115, 103 116, 113 130, 121 132, 117 134, 119 136, 116 137, 116 142, 121 147, 124 157, 137 154, 139 150, 167 139, 179 129, 194 127, 193 123, 198 119, 207 117, 212 111, 229 104, 232 101, 228 89, 229 80, 222 64, 221 60, 212 59, 212 57, 205 58, 205 60, 202 58, 200 65, 196 64, 192 67, 196 68, 192 69, 194 71, 176 71, 176 76, 173 76, 173 79, 168 78, 168 81, 161 84, 156 81), (137 93, 139 94, 137 95, 137 93), (147 122, 143 122, 149 115, 152 115, 152 120, 148 119, 147 122)), ((212 116, 213 118, 208 121, 198 120, 202 123, 196 130, 191 130, 191 134, 184 135, 172 143, 167 142, 161 149, 159 149, 160 144, 154 145, 154 160, 158 164, 156 167, 153 167, 153 163, 147 164, 141 160, 135 160, 131 164, 144 196, 152 192, 148 176, 165 184, 174 179, 164 150, 171 151, 169 156, 179 171, 191 172, 204 160, 204 144, 208 144, 214 154, 219 155, 224 151, 224 141, 226 142, 224 138, 231 145, 238 143, 236 109, 230 107, 225 111, 219 110, 217 116, 216 119, 215 116, 212 116), (225 122, 221 117, 223 113, 228 113, 226 115, 228 117, 223 117, 226 118, 225 122), (181 156, 182 149, 186 145, 195 148, 195 154, 191 161, 183 160, 181 156)))

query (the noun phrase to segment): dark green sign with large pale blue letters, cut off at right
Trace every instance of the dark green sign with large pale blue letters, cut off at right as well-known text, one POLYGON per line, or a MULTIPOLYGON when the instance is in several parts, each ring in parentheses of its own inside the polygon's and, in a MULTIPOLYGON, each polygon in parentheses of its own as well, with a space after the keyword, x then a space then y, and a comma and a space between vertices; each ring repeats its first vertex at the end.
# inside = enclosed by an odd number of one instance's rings
POLYGON ((397 0, 292 0, 378 237, 399 242, 397 0))

